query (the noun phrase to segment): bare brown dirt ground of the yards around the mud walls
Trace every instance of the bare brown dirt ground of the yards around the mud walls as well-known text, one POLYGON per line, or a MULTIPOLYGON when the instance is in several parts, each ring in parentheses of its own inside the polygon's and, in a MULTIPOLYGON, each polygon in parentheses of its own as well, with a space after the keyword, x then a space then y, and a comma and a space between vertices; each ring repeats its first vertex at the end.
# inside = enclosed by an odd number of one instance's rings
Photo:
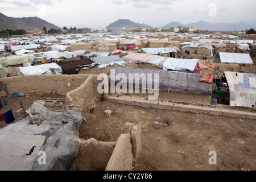
MULTIPOLYGON (((16 113, 21 108, 19 100, 28 109, 34 100, 64 96, 46 94, 8 98, 10 105, 7 106, 1 98, 1 114, 12 109, 15 121, 18 121, 23 117, 22 113, 16 113)), ((94 104, 93 113, 82 113, 86 119, 79 127, 82 139, 115 142, 124 123, 141 124, 142 151, 133 164, 134 171, 256 170, 256 119, 143 108, 101 102, 100 98, 94 104), (104 116, 107 109, 113 111, 112 117, 104 116), (216 165, 208 162, 210 151, 216 151, 216 165)), ((0 122, 0 128, 5 126, 4 121, 0 122)))

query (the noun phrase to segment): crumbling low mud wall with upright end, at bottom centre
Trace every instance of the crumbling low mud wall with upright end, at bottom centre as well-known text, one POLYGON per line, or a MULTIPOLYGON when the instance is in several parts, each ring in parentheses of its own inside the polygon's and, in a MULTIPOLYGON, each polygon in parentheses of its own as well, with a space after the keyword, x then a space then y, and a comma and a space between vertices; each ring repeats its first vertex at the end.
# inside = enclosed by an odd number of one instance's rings
POLYGON ((71 171, 133 171, 141 150, 141 125, 125 123, 116 142, 81 139, 71 171))

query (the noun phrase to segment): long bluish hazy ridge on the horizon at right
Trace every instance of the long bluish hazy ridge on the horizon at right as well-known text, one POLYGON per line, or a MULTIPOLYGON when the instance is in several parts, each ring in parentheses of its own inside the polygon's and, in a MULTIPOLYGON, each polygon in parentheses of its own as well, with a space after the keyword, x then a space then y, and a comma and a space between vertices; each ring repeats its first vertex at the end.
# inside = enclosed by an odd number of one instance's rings
POLYGON ((197 23, 181 24, 179 22, 171 22, 163 26, 165 30, 168 30, 171 27, 197 27, 201 30, 208 31, 241 31, 249 30, 250 28, 256 29, 256 23, 254 22, 240 22, 240 23, 208 23, 205 21, 200 21, 197 23))

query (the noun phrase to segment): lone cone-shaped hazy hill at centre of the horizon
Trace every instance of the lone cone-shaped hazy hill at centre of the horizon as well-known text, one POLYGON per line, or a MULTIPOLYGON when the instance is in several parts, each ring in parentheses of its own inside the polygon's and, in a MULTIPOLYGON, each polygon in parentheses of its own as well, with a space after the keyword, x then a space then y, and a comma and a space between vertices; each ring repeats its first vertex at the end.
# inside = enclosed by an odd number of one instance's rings
POLYGON ((109 24, 106 29, 118 32, 122 31, 122 27, 126 27, 126 30, 128 28, 133 28, 133 30, 137 30, 138 27, 146 27, 148 30, 155 29, 154 27, 151 27, 144 23, 134 23, 129 19, 118 19, 116 22, 109 24))

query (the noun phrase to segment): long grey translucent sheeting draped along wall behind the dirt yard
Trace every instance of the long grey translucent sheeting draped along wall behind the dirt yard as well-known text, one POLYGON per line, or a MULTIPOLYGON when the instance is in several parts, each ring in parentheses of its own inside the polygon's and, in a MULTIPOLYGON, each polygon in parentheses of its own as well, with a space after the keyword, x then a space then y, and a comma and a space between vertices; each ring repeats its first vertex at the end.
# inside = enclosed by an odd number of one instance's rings
MULTIPOLYGON (((136 89, 153 89, 159 91, 173 91, 181 93, 193 93, 193 94, 204 94, 212 95, 212 84, 206 82, 200 82, 201 74, 194 73, 182 73, 182 72, 169 72, 157 69, 139 69, 139 68, 126 68, 126 67, 113 67, 115 76, 109 75, 110 83, 115 82, 115 84, 133 85, 136 89), (116 79, 118 74, 126 75, 126 79, 116 79), (138 73, 138 76, 129 77, 130 73, 138 73), (154 78, 155 74, 158 74, 158 88, 155 88, 154 78), (143 78, 146 77, 146 80, 143 78), (114 79, 113 79, 114 78, 114 79), (150 80, 148 80, 150 79, 150 80), (125 81, 126 80, 126 81, 125 81), (136 81, 139 84, 135 84, 136 81), (145 84, 147 83, 147 84, 145 84), (146 88, 145 88, 146 86, 146 88)), ((112 72, 113 72, 112 71, 112 72)), ((110 72, 111 74, 111 72, 110 72)))

